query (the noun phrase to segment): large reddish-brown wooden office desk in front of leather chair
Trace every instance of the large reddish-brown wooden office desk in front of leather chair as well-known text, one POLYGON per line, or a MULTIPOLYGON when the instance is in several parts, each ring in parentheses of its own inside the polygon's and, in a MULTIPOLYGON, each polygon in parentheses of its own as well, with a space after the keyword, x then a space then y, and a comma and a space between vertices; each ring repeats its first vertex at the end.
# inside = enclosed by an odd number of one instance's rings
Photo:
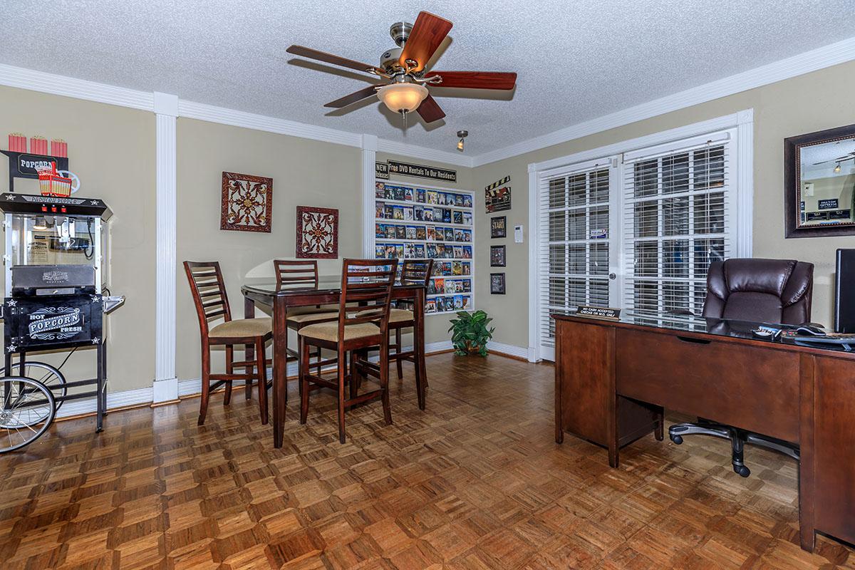
MULTIPOLYGON (((751 337, 748 323, 655 317, 556 320, 555 438, 609 450, 653 432, 663 408, 799 444, 801 547, 855 542, 855 354, 751 337)), ((751 447, 747 447, 750 450, 751 447)))

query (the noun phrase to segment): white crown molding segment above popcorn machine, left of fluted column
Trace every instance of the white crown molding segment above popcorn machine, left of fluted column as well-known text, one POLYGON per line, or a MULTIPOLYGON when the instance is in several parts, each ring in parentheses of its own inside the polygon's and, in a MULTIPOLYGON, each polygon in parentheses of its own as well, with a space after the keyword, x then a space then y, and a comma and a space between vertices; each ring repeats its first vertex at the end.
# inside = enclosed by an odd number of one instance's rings
POLYGON ((3 63, 0 63, 0 85, 144 111, 154 111, 155 108, 154 93, 116 87, 115 85, 87 81, 86 79, 75 79, 56 73, 16 68, 3 63))

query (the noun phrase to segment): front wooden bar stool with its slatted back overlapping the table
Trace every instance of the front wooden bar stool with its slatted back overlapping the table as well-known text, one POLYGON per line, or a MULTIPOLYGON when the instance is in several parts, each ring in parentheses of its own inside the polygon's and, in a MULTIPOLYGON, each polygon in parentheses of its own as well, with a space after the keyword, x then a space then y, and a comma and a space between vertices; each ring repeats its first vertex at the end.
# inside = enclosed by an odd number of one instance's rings
MULTIPOLYGON (((339 400, 339 442, 345 443, 345 408, 380 398, 386 424, 392 423, 389 408, 389 305, 392 286, 398 269, 397 259, 345 259, 341 268, 341 299, 339 318, 334 322, 304 326, 298 332, 300 350, 300 423, 306 423, 309 414, 310 385, 336 391, 339 400), (354 305, 360 305, 359 307, 354 305), (350 307, 349 307, 350 305, 350 307), (368 307, 369 309, 364 309, 368 307), (380 346, 380 390, 357 395, 357 367, 354 353, 367 352, 380 346), (310 347, 334 350, 337 355, 337 381, 323 379, 320 373, 308 370, 310 347), (351 374, 348 376, 346 356, 351 355, 351 374), (345 397, 345 383, 350 384, 350 397, 345 397)), ((369 371, 371 375, 374 375, 369 371)))

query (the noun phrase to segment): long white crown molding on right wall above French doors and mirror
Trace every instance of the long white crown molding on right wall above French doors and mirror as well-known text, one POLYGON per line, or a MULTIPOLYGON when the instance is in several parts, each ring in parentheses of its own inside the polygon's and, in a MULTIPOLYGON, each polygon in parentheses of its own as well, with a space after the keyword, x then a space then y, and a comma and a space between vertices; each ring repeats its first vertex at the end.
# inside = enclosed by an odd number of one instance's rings
POLYGON ((805 51, 797 56, 787 57, 778 62, 772 62, 759 68, 717 79, 705 85, 699 85, 686 91, 674 93, 666 97, 641 103, 628 109, 622 109, 603 115, 596 119, 586 120, 573 126, 568 126, 540 137, 529 138, 520 143, 510 144, 502 149, 491 150, 475 156, 473 166, 480 167, 490 162, 496 162, 519 156, 533 150, 544 149, 555 144, 566 143, 575 138, 586 137, 596 132, 603 132, 618 126, 628 125, 639 120, 650 119, 657 115, 670 113, 678 109, 706 103, 741 91, 748 91, 763 85, 790 79, 818 69, 829 68, 839 63, 851 62, 855 59, 855 38, 841 40, 828 44, 816 50, 805 51))

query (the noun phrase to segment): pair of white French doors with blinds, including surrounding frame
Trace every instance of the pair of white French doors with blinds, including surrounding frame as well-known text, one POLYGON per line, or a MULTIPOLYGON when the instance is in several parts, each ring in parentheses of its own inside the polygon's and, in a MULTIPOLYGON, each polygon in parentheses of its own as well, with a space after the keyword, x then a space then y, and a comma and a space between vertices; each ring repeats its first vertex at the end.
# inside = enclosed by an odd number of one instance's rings
POLYGON ((550 315, 578 305, 702 313, 710 263, 751 255, 751 177, 737 177, 751 129, 750 113, 730 115, 529 165, 535 358, 554 360, 550 315))

